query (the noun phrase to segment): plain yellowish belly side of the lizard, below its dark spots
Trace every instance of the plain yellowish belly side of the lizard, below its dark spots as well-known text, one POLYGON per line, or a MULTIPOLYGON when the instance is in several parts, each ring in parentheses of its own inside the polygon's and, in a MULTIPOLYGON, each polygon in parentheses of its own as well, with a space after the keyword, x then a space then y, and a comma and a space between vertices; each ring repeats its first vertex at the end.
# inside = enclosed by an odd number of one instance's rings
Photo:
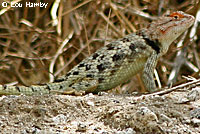
POLYGON ((96 92, 99 90, 105 91, 111 88, 114 88, 127 80, 133 77, 135 74, 141 72, 144 68, 147 58, 138 58, 134 62, 123 65, 114 75, 111 75, 109 78, 102 83, 99 83, 96 92))

